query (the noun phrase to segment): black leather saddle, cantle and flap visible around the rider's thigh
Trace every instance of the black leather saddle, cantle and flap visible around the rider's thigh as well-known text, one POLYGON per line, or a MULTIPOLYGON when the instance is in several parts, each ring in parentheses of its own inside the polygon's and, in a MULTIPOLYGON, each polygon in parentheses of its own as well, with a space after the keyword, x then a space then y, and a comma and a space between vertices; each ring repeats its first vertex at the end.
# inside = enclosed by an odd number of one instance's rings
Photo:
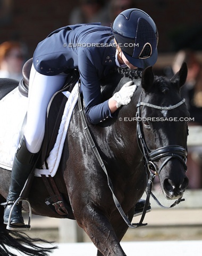
MULTIPOLYGON (((30 70, 32 66, 32 60, 33 59, 31 58, 24 64, 22 68, 23 78, 19 82, 19 91, 25 97, 28 97, 29 77, 30 77, 30 70)), ((37 163, 37 168, 39 169, 44 163, 47 165, 46 159, 55 145, 55 141, 57 138, 58 130, 60 128, 64 108, 65 108, 66 102, 68 101, 68 98, 66 98, 62 92, 64 91, 71 92, 74 85, 79 80, 78 69, 68 70, 67 74, 68 76, 66 78, 66 81, 62 89, 53 95, 47 108, 45 135, 44 135, 43 144, 40 150, 39 161, 37 163)), ((46 167, 48 168, 48 166, 46 167)))

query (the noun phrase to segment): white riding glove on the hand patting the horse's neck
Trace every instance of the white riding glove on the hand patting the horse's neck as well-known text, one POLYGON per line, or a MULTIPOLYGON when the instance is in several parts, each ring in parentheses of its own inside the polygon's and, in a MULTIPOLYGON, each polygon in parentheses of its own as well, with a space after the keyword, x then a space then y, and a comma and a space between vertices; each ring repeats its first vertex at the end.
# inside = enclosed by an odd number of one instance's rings
POLYGON ((119 92, 114 93, 112 99, 116 101, 116 107, 120 108, 121 105, 128 105, 131 101, 131 97, 136 91, 137 86, 132 85, 133 82, 129 81, 128 83, 124 84, 119 92))

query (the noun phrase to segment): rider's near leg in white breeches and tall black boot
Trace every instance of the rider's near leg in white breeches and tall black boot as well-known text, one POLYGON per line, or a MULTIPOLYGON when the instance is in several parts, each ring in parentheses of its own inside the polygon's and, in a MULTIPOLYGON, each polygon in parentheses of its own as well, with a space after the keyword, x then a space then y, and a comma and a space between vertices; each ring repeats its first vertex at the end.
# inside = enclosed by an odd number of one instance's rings
MULTIPOLYGON (((4 223, 9 220, 9 214, 14 201, 19 198, 24 183, 33 167, 35 167, 37 153, 40 150, 44 138, 45 117, 49 100, 52 95, 61 89, 66 79, 66 74, 56 76, 44 76, 32 67, 29 82, 27 125, 24 137, 16 151, 7 205, 4 211, 4 223)), ((15 205, 11 224, 24 225, 21 203, 15 205)))

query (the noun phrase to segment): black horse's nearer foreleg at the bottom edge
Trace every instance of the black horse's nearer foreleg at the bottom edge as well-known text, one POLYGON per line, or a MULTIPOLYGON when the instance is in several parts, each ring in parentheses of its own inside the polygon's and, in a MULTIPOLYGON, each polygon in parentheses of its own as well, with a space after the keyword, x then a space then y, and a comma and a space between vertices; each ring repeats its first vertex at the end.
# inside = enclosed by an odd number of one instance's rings
POLYGON ((85 206, 82 211, 74 211, 78 225, 85 230, 98 249, 99 256, 126 255, 120 245, 108 218, 95 207, 85 206))

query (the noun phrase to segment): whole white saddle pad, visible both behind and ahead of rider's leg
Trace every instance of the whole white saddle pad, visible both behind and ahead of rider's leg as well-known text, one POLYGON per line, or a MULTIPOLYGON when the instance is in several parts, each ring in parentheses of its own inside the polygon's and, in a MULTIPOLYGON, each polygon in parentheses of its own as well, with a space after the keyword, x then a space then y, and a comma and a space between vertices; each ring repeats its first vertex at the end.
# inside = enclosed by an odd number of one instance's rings
MULTIPOLYGON (((68 101, 64 108, 60 129, 54 148, 47 158, 48 169, 45 166, 43 166, 44 169, 36 169, 35 175, 38 177, 41 174, 53 177, 57 171, 73 109, 78 101, 78 83, 71 93, 63 93, 68 97, 68 101)), ((18 87, 0 101, 0 167, 3 169, 12 169, 13 158, 20 141, 22 123, 27 111, 27 103, 28 98, 19 92, 18 87)))

